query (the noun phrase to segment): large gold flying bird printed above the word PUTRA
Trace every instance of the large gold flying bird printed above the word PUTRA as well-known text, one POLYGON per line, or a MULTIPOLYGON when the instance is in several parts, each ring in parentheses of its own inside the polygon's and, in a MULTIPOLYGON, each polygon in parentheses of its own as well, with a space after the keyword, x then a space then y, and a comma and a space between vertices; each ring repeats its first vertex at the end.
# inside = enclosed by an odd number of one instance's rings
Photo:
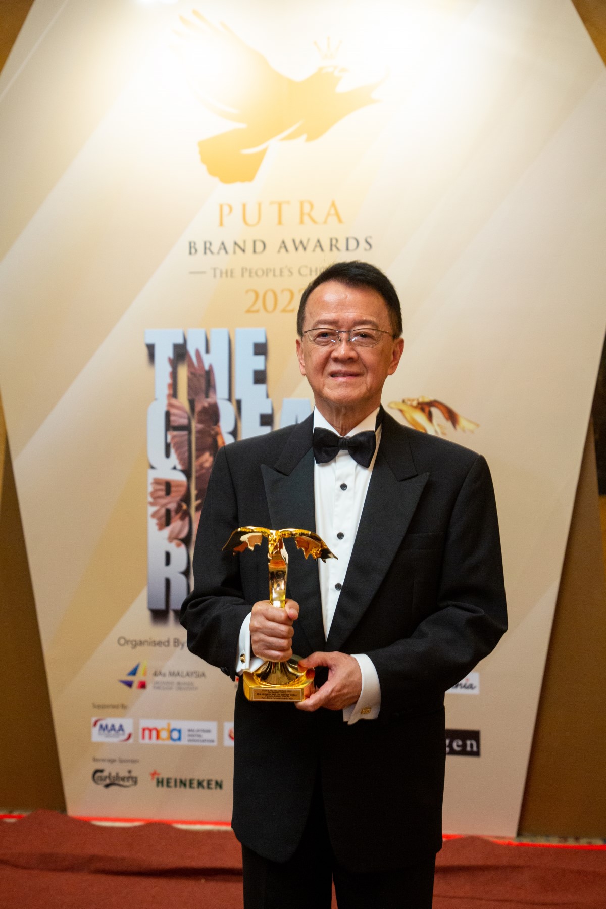
POLYGON ((237 124, 198 143, 208 173, 225 184, 250 183, 272 142, 302 136, 313 142, 374 104, 373 91, 386 78, 349 92, 337 91, 346 71, 334 65, 290 79, 224 23, 213 25, 197 10, 192 16, 180 16, 184 32, 175 32, 190 84, 208 110, 237 124))

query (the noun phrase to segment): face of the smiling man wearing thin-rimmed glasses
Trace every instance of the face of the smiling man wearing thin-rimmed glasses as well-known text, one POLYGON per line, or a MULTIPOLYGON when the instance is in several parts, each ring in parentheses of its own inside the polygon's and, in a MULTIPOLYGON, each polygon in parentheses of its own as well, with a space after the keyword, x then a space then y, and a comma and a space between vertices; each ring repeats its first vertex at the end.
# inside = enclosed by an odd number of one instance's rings
POLYGON ((402 338, 392 338, 382 296, 370 287, 328 281, 316 287, 305 305, 303 332, 310 328, 376 328, 389 333, 381 335, 375 347, 356 347, 345 338, 340 344, 318 347, 304 334, 296 342, 299 368, 316 401, 339 409, 378 406, 383 383, 395 372, 404 346, 402 338))

